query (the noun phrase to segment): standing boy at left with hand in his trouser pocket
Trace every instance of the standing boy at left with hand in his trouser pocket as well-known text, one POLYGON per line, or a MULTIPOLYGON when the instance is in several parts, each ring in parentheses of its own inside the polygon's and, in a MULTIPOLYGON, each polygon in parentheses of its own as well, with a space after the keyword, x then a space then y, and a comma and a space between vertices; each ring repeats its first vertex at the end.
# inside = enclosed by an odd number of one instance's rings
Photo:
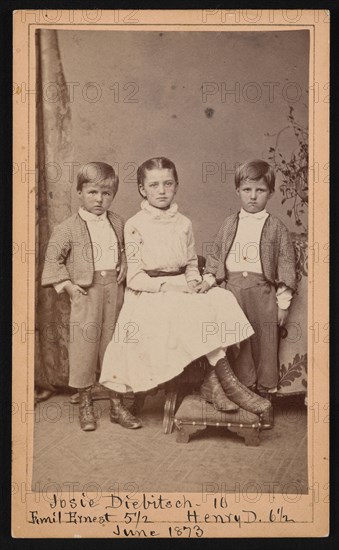
MULTIPOLYGON (((79 392, 79 420, 84 431, 96 429, 91 387, 122 307, 127 261, 124 223, 109 211, 119 178, 112 166, 90 162, 77 176, 79 211, 58 225, 50 238, 42 285, 67 292, 71 300, 69 385, 79 392)), ((139 422, 110 396, 110 417, 127 428, 139 422)))

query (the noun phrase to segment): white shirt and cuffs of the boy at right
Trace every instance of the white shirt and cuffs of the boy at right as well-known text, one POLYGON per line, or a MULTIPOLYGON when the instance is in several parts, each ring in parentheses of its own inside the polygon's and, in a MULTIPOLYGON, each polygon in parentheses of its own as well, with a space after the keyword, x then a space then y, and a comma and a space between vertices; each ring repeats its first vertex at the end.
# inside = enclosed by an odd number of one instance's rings
MULTIPOLYGON (((262 273, 260 260, 260 238, 264 223, 269 214, 266 209, 251 214, 243 208, 239 213, 237 232, 226 259, 226 268, 230 272, 248 271, 262 273)), ((212 274, 204 276, 210 286, 215 284, 212 274)), ((280 284, 276 291, 277 304, 280 309, 288 309, 292 300, 292 291, 280 284)))

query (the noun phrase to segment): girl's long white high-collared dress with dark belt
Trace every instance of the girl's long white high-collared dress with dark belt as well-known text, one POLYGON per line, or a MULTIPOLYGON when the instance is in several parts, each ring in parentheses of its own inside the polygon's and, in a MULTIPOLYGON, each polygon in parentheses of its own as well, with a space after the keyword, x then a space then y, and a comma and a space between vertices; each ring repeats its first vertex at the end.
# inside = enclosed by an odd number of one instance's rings
POLYGON ((163 282, 200 281, 191 221, 176 204, 143 201, 125 225, 128 262, 124 305, 108 344, 100 383, 117 392, 146 391, 171 380, 194 359, 238 343, 254 331, 231 292, 161 292, 163 282), (149 270, 185 273, 151 277, 149 270))

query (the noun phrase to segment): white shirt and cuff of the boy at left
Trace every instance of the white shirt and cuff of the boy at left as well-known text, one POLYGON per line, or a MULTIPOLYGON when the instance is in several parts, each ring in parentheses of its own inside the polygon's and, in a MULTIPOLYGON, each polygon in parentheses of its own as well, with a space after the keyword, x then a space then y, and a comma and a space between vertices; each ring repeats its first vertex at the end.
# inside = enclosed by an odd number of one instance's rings
MULTIPOLYGON (((79 208, 79 216, 87 223, 92 241, 94 270, 116 269, 119 257, 118 239, 107 218, 107 212, 97 216, 84 208, 79 208)), ((86 254, 86 250, 83 253, 86 254)), ((62 281, 54 285, 58 294, 63 291, 67 282, 62 281)))

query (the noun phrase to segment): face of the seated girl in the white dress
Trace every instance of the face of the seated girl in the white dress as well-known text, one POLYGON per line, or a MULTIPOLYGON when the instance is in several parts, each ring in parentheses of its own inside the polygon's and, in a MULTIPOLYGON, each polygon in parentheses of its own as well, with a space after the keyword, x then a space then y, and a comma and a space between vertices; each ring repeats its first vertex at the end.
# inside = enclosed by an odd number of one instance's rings
POLYGON ((144 183, 140 192, 151 206, 166 210, 171 206, 177 191, 173 171, 169 168, 152 168, 146 170, 144 183))

